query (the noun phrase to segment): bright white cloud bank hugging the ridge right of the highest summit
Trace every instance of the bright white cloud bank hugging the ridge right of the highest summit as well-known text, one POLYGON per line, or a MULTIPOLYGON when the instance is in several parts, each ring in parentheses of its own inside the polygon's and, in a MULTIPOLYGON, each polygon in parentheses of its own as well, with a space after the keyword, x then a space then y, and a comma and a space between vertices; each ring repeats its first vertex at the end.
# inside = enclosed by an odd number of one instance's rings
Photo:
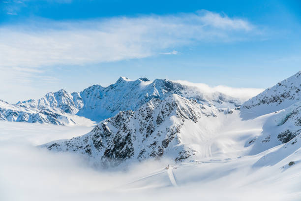
POLYGON ((264 89, 260 89, 260 88, 236 88, 236 87, 228 87, 228 86, 223 86, 223 85, 210 87, 209 85, 204 84, 204 83, 192 83, 192 82, 188 82, 188 81, 184 81, 184 80, 176 80, 175 82, 179 82, 186 86, 196 87, 200 91, 202 91, 204 93, 208 93, 208 94, 211 94, 214 92, 220 92, 220 93, 226 94, 228 96, 237 98, 237 99, 241 100, 242 102, 246 101, 264 91, 264 89))

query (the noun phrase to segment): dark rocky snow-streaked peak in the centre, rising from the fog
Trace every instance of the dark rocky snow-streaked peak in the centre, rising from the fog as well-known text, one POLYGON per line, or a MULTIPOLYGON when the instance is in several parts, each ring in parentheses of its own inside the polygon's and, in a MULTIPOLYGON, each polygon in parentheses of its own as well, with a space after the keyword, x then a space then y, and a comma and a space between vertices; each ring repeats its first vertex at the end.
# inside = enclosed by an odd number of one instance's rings
POLYGON ((187 131, 202 118, 215 118, 220 112, 175 94, 164 100, 153 98, 136 111, 121 111, 100 122, 88 134, 42 146, 79 152, 106 167, 163 156, 182 161, 196 154, 189 144, 183 143, 191 134, 182 130, 187 131))

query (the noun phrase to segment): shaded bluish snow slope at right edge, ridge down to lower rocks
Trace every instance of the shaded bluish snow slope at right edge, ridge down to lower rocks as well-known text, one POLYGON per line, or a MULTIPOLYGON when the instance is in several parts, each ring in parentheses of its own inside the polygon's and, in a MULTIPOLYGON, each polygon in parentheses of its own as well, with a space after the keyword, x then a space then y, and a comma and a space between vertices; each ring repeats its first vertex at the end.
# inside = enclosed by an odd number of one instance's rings
POLYGON ((301 133, 301 71, 241 105, 242 120, 266 119, 262 133, 251 139, 250 154, 286 143, 301 133))

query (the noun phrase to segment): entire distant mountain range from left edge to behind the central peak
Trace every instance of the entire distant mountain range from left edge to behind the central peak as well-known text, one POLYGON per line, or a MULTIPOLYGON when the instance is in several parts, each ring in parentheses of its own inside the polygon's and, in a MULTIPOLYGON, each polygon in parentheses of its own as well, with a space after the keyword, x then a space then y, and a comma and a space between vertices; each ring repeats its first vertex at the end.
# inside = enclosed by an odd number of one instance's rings
MULTIPOLYGON (((1 120, 39 122, 64 125, 76 123, 68 115, 83 116, 93 121, 101 121, 116 115, 120 111, 136 111, 153 98, 164 100, 172 94, 178 94, 199 103, 217 107, 239 106, 239 100, 225 94, 214 92, 206 94, 197 88, 182 85, 166 79, 147 78, 130 81, 120 77, 108 87, 93 85, 82 92, 72 94, 65 90, 49 92, 38 100, 19 101, 17 104, 2 104, 1 120), (14 117, 10 117, 7 108, 13 107, 14 117), (27 114, 24 114, 27 111, 27 114), (30 118, 30 114, 34 117, 30 118), (46 116, 45 116, 46 115, 46 116), (48 119, 48 120, 47 120, 48 119), (66 121, 62 121, 64 119, 66 121)), ((76 117, 74 117, 76 118, 76 117)))

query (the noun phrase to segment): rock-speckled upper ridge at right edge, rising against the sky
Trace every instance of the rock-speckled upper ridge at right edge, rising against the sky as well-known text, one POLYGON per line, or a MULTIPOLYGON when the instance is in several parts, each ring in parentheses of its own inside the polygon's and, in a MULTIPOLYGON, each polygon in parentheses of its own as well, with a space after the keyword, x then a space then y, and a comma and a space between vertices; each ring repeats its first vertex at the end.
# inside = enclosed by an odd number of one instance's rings
POLYGON ((279 111, 301 100, 301 71, 244 102, 241 111, 263 115, 279 111))

